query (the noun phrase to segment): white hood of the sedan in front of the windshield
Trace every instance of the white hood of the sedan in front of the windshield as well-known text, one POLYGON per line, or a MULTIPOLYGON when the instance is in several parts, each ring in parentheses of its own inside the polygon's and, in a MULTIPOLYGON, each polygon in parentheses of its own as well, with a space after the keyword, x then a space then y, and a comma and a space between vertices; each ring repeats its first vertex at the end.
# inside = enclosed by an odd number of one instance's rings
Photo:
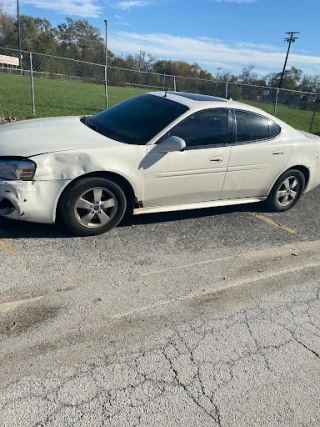
POLYGON ((88 128, 78 116, 25 120, 0 126, 0 156, 30 157, 119 145, 123 144, 88 128))

